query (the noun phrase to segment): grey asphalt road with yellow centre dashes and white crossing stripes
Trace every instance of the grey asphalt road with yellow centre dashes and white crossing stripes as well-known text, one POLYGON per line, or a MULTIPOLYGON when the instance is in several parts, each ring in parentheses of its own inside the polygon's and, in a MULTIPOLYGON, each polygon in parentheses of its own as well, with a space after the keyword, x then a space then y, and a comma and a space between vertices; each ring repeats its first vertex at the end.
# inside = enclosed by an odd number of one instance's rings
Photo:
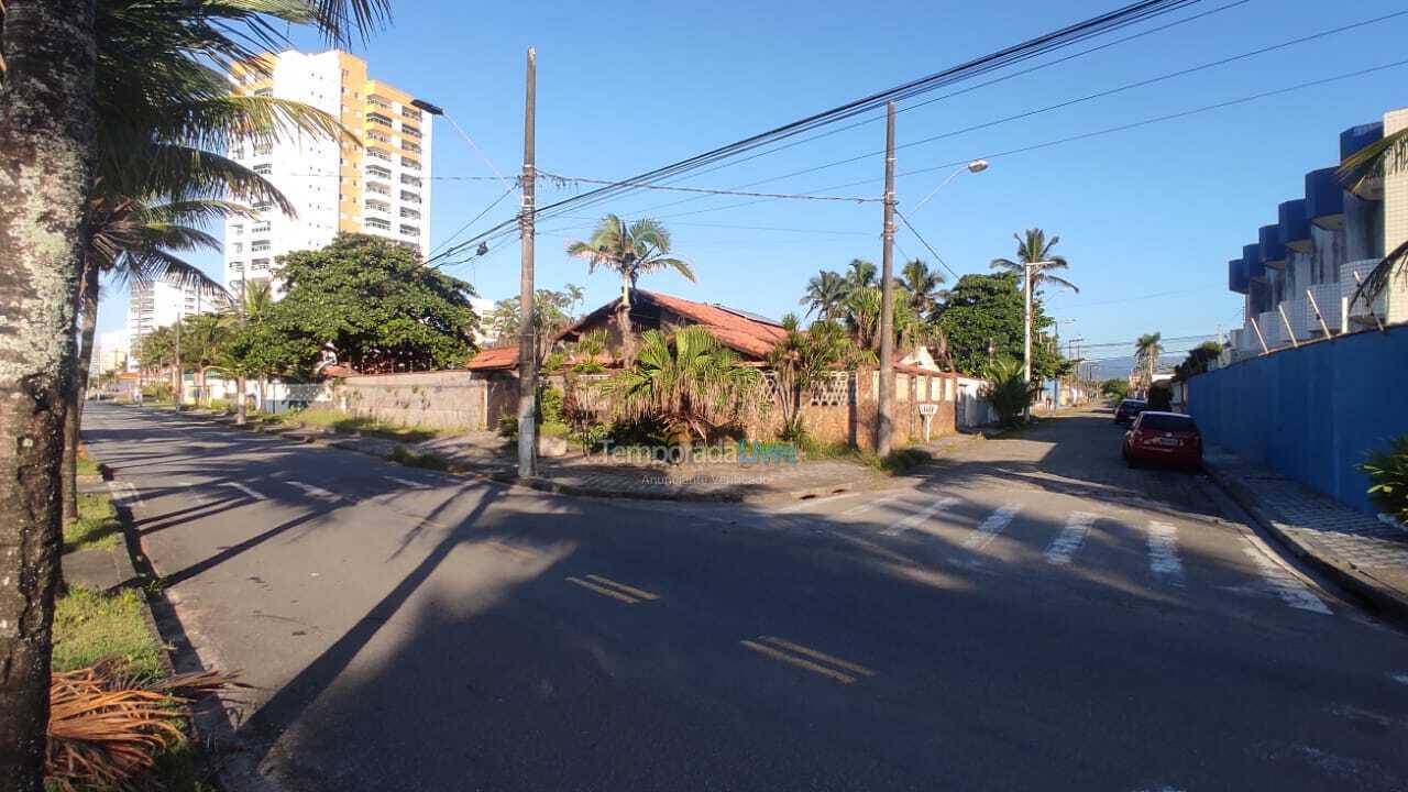
POLYGON ((1405 636, 1108 413, 772 509, 84 420, 287 789, 1408 789, 1405 636))

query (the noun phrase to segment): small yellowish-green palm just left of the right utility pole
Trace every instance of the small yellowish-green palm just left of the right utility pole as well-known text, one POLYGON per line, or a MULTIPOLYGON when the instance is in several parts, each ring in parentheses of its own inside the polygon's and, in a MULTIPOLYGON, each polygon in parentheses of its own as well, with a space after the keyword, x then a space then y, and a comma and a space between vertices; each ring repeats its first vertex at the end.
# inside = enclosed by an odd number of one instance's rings
POLYGON ((796 441, 807 433, 807 395, 834 373, 874 361, 874 355, 857 347, 835 321, 818 320, 803 331, 797 317, 787 314, 783 328, 787 334, 767 352, 767 365, 777 378, 781 438, 796 441))

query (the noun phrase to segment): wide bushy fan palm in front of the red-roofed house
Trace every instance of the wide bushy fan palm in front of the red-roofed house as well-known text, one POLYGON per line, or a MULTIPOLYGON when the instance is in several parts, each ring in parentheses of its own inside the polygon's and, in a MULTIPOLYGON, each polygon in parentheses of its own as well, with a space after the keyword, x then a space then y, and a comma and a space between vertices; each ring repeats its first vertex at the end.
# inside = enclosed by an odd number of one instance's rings
POLYGON ((755 406, 762 376, 703 327, 646 330, 638 352, 603 392, 625 414, 663 423, 670 437, 707 441, 755 406))

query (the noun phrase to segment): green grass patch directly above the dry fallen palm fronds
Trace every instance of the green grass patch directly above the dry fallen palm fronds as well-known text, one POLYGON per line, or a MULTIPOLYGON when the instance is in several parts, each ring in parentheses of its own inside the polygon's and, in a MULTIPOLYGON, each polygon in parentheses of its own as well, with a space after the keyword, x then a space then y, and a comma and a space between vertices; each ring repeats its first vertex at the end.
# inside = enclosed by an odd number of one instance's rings
POLYGON ((146 629, 142 593, 113 595, 70 586, 54 610, 54 669, 73 671, 117 657, 132 674, 162 672, 161 650, 146 629))

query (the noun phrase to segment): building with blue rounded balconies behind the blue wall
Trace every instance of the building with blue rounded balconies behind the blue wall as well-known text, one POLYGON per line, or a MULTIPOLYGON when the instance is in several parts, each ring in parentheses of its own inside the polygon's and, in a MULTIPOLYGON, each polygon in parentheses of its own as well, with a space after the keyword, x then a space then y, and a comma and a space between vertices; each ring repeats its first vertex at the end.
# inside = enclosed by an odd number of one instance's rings
MULTIPOLYGON (((1408 109, 1381 121, 1345 130, 1340 161, 1385 132, 1408 127, 1408 109)), ((1385 251, 1408 240, 1408 172, 1347 190, 1338 166, 1305 175, 1305 194, 1277 207, 1277 223, 1262 225, 1256 242, 1228 262, 1228 289, 1243 295, 1243 324, 1231 334, 1233 355, 1247 357, 1291 342, 1408 321, 1408 285, 1390 280, 1374 300, 1353 300, 1385 251)))

